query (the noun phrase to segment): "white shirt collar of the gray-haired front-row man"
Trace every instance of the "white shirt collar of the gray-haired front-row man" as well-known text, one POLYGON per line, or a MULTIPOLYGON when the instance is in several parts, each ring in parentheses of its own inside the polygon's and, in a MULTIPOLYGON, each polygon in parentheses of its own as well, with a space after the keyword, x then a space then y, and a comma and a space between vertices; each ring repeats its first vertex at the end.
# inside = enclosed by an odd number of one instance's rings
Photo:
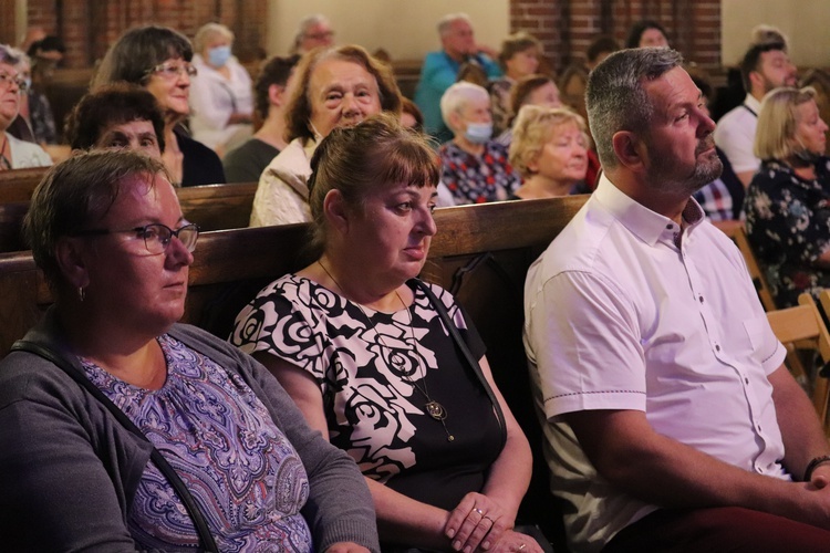
MULTIPOLYGON (((626 196, 608 179, 604 173, 600 177, 600 184, 593 197, 623 227, 649 246, 654 246, 658 240, 670 240, 676 243, 675 237, 679 232, 676 222, 626 196)), ((689 232, 704 220, 703 209, 694 198, 689 198, 686 202, 683 209, 683 220, 686 222, 685 232, 689 232)))

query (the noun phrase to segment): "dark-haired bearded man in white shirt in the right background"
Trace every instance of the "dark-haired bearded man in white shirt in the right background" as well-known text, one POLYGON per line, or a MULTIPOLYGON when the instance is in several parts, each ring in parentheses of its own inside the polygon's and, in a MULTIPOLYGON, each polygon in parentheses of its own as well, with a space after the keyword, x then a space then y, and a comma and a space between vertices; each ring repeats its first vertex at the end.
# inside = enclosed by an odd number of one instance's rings
POLYGON ((724 150, 735 174, 747 187, 760 166, 753 152, 760 101, 772 88, 796 86, 798 75, 787 55, 787 45, 772 41, 753 44, 747 50, 740 62, 740 76, 747 90, 746 98, 720 118, 715 144, 724 150))

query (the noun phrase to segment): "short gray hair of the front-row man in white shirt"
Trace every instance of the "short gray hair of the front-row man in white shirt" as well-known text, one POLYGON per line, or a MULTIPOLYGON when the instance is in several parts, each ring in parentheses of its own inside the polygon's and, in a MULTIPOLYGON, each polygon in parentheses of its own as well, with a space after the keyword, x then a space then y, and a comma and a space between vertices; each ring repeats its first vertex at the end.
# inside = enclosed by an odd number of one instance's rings
POLYGON ((612 138, 619 131, 649 128, 654 106, 645 83, 683 64, 679 52, 666 48, 621 50, 609 55, 588 77, 588 122, 604 168, 616 167, 612 138))

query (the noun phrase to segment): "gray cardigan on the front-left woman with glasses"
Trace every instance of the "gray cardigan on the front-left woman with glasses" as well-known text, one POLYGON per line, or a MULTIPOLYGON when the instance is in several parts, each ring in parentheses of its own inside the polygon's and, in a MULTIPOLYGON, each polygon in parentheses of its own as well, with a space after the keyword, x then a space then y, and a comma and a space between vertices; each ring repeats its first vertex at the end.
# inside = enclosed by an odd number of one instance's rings
MULTIPOLYGON (((58 345, 53 314, 27 340, 58 345)), ((277 379, 252 357, 194 326, 169 334, 238 373, 305 466, 302 514, 317 551, 349 541, 380 551, 366 483, 352 459, 305 424, 277 379)), ((74 359, 74 357, 71 357, 74 359)), ((0 549, 135 551, 127 511, 149 460, 134 436, 52 363, 13 352, 0 363, 0 549)))

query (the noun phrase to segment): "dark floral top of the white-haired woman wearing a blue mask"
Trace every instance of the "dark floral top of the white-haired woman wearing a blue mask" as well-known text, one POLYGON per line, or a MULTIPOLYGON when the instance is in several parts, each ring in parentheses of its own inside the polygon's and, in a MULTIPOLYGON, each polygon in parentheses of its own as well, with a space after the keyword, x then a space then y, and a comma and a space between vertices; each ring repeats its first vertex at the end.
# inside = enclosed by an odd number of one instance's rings
POLYGON ((448 142, 438 148, 444 182, 456 205, 504 201, 521 186, 521 176, 507 160, 507 147, 489 140, 480 156, 448 142))

